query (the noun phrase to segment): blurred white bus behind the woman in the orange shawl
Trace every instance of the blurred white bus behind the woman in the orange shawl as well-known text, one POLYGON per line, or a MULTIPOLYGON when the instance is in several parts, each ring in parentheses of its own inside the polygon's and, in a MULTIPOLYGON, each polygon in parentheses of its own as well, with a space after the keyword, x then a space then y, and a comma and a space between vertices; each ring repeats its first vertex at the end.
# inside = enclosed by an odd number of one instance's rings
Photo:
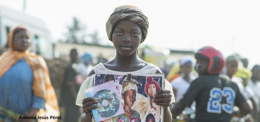
POLYGON ((8 33, 20 24, 31 32, 32 52, 49 59, 57 57, 58 54, 53 51, 56 47, 52 43, 51 33, 42 20, 4 5, 0 5, 0 47, 7 45, 8 33))

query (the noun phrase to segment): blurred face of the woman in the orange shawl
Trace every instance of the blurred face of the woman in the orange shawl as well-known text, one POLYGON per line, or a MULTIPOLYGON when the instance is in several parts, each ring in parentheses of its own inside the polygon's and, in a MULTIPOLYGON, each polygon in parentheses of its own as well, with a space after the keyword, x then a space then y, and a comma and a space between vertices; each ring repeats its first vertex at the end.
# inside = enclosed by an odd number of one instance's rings
POLYGON ((13 36, 13 50, 25 51, 30 46, 31 40, 29 39, 29 33, 26 30, 20 30, 13 36))

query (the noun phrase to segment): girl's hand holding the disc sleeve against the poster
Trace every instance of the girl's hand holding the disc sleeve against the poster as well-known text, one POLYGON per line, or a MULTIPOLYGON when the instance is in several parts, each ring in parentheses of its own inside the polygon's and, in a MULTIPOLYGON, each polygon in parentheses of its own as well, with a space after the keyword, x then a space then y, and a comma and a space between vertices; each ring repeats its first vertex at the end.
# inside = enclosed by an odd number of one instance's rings
POLYGON ((86 113, 86 116, 91 118, 92 117, 92 112, 91 110, 93 109, 97 109, 99 106, 98 105, 94 105, 97 104, 98 101, 95 100, 94 97, 89 97, 89 98, 84 98, 82 101, 82 105, 83 105, 83 111, 86 113), (94 106, 92 106, 94 105, 94 106))

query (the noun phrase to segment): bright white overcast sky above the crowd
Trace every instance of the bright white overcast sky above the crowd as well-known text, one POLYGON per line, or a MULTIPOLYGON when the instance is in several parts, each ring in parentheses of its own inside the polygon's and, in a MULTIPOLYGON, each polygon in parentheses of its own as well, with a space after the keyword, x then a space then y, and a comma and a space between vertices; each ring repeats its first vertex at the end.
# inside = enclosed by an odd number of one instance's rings
MULTIPOLYGON (((1 0, 0 4, 18 11, 23 8, 23 0, 1 0)), ((116 7, 126 4, 148 17, 144 44, 176 50, 214 46, 225 57, 233 53, 247 57, 249 68, 260 64, 258 0, 27 0, 26 13, 41 18, 54 41, 64 38, 66 26, 76 16, 88 32, 97 30, 102 42, 109 44, 105 23, 116 7)))

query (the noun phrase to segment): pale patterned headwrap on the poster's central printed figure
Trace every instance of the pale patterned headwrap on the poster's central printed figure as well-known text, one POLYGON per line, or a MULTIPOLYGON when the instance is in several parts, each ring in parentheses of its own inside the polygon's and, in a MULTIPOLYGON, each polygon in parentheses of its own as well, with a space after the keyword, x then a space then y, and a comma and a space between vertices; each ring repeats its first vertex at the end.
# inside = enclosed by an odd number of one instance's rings
POLYGON ((135 93, 137 93, 136 82, 134 82, 133 79, 131 79, 131 74, 128 74, 126 80, 124 80, 124 82, 122 84, 121 95, 123 96, 125 91, 130 90, 130 89, 135 90, 135 93))

